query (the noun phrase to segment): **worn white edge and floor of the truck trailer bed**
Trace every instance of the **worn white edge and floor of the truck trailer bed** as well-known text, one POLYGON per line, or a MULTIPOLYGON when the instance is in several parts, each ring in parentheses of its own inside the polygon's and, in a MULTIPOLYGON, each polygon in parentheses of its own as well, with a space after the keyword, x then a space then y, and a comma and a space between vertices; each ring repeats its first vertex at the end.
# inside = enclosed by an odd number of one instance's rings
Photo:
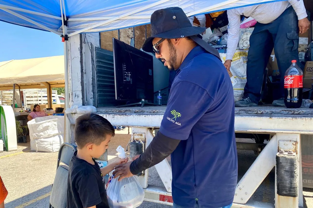
MULTIPOLYGON (((97 114, 116 126, 160 127, 166 106, 101 107, 97 114)), ((225 112, 227 113, 227 112, 225 112)), ((235 108, 235 131, 313 134, 313 109, 257 106, 235 108)))

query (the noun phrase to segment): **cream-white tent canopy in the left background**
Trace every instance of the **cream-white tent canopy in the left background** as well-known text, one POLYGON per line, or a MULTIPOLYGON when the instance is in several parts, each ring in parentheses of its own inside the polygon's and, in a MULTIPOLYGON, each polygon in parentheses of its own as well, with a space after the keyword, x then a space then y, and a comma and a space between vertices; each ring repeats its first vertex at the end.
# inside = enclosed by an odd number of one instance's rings
POLYGON ((52 56, 0 62, 0 89, 12 88, 18 84, 21 88, 64 86, 64 56, 52 56))

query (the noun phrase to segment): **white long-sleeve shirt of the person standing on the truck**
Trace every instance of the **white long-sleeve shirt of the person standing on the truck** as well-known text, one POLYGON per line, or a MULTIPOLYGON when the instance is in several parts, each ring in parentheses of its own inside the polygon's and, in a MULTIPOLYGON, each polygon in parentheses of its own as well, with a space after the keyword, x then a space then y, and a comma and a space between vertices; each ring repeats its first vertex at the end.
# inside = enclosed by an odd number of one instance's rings
POLYGON ((290 7, 290 5, 295 9, 298 20, 307 17, 303 0, 273 2, 228 10, 228 40, 226 60, 233 60, 233 55, 239 42, 240 15, 252 17, 257 22, 262 24, 268 24, 277 19, 286 8, 290 7))

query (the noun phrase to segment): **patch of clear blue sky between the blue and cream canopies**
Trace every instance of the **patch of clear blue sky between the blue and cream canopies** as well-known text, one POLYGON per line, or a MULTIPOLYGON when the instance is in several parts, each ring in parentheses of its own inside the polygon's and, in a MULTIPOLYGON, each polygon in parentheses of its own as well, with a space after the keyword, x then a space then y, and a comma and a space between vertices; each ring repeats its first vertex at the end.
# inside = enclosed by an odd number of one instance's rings
POLYGON ((63 55, 61 37, 0 21, 0 62, 63 55))

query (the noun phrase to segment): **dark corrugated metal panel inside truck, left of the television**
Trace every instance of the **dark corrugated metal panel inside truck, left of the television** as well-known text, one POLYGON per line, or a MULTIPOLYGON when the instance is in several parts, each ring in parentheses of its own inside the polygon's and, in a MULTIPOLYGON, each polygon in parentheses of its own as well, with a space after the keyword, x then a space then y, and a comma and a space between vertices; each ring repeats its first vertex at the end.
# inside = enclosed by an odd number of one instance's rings
POLYGON ((95 47, 95 62, 95 105, 97 107, 114 106, 115 83, 113 52, 95 47))

